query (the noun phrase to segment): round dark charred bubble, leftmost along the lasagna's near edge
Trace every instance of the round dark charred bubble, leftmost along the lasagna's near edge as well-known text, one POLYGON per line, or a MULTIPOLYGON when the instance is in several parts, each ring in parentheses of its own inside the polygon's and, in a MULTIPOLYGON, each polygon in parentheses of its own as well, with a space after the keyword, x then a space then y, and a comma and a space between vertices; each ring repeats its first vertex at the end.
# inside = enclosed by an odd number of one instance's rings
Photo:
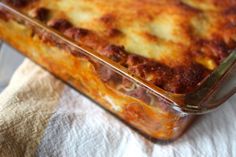
POLYGON ((50 10, 44 7, 39 7, 31 10, 29 15, 42 22, 46 22, 49 19, 50 10))

